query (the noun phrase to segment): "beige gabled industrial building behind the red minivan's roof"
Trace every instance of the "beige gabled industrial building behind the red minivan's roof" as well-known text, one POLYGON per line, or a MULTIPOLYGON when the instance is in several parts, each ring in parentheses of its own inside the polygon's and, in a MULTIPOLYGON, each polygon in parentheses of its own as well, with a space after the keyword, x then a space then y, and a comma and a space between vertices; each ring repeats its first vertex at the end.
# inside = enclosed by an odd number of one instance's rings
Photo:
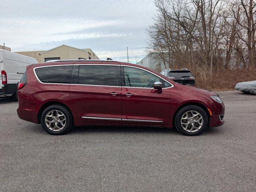
POLYGON ((21 55, 35 58, 39 63, 49 60, 66 59, 92 59, 98 60, 98 56, 91 49, 78 49, 68 45, 61 45, 50 50, 15 52, 21 55))

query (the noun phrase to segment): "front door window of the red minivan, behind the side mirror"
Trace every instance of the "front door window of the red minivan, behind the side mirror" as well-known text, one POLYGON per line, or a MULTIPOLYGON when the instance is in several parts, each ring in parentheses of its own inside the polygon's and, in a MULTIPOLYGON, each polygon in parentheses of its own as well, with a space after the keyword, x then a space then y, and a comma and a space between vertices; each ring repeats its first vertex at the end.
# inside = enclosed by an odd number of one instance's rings
POLYGON ((127 87, 152 88, 155 82, 162 82, 162 88, 171 86, 162 78, 142 69, 124 67, 124 71, 127 87))

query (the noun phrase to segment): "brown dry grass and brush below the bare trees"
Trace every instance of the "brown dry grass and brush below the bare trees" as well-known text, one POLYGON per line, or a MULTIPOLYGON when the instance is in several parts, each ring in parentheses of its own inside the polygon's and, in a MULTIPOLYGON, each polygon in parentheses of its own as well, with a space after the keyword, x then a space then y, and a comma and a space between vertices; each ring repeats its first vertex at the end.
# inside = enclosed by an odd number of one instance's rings
POLYGON ((213 90, 225 91, 234 90, 239 82, 256 80, 256 71, 247 70, 219 71, 213 74, 212 80, 204 78, 202 74, 196 75, 196 84, 198 87, 213 90))

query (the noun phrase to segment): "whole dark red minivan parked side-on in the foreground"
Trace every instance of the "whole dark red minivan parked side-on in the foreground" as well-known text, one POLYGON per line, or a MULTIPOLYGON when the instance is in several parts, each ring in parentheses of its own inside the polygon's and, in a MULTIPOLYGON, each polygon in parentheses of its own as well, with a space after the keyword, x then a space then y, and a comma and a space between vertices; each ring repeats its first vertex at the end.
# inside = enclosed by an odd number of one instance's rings
POLYGON ((214 92, 112 60, 29 65, 18 84, 18 103, 19 118, 53 135, 73 126, 153 126, 194 136, 221 126, 225 111, 214 92))

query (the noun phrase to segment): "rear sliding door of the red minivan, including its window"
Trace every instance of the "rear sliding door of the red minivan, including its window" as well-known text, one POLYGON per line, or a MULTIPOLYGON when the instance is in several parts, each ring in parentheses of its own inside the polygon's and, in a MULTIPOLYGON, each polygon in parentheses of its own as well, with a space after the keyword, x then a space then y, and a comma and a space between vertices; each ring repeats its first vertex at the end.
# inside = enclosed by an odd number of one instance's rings
POLYGON ((120 64, 74 64, 70 100, 82 124, 121 124, 120 64))

